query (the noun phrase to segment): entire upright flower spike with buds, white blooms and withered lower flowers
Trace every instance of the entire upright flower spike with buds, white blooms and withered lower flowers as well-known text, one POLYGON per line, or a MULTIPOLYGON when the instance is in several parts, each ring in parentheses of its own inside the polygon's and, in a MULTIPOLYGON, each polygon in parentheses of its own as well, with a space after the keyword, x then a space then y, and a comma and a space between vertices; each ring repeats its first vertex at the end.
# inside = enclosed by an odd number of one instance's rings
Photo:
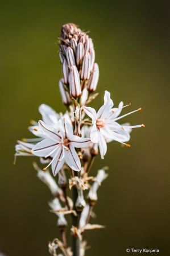
POLYGON ((108 176, 105 168, 99 170, 96 177, 89 176, 94 166, 93 162, 98 152, 101 158, 104 158, 109 142, 117 141, 130 147, 126 142, 130 140, 131 130, 144 125, 130 126, 130 123, 120 125, 117 122, 119 119, 141 109, 119 116, 126 106, 120 102, 118 108, 113 108, 114 104, 107 90, 105 90, 104 104, 98 112, 88 106, 98 95, 93 93, 98 84, 99 68, 95 63, 93 41, 87 32, 80 30, 73 23, 65 24, 61 28, 59 47, 63 73, 59 81, 59 90, 67 111, 65 114, 56 113, 51 107, 40 105, 42 120, 31 121, 32 126, 28 127, 36 138, 18 141, 15 146, 15 158, 37 156, 40 163, 44 164, 41 170, 38 164, 33 163, 39 179, 52 193, 53 200, 49 201, 49 207, 57 216, 57 227, 62 240, 61 242, 55 238, 53 242, 49 242, 49 253, 53 256, 84 256, 85 250, 88 249, 82 240, 85 230, 105 228, 102 225, 89 223, 90 216, 94 216, 93 208, 98 200, 97 190, 108 176), (67 180, 67 172, 69 180, 67 180), (58 185, 52 175, 59 176, 58 185), (72 199, 68 197, 67 189, 72 190, 72 199), (86 189, 89 193, 85 201, 86 189), (70 246, 67 245, 65 237, 68 229, 65 218, 67 214, 72 216, 70 246), (57 254, 58 250, 61 254, 57 254))

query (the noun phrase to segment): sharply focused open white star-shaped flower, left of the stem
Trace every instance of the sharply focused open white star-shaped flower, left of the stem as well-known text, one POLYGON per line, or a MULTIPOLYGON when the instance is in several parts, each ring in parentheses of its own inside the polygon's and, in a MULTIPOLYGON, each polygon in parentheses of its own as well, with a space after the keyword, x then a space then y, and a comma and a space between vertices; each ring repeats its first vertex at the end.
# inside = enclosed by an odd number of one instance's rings
POLYGON ((73 135, 72 126, 64 117, 61 117, 56 127, 45 125, 43 121, 39 121, 38 131, 43 134, 45 139, 36 144, 31 152, 34 155, 44 156, 45 158, 52 156, 53 159, 48 166, 52 164, 54 176, 59 172, 64 161, 74 171, 80 171, 80 159, 74 147, 87 146, 90 143, 89 138, 80 138, 73 135))

